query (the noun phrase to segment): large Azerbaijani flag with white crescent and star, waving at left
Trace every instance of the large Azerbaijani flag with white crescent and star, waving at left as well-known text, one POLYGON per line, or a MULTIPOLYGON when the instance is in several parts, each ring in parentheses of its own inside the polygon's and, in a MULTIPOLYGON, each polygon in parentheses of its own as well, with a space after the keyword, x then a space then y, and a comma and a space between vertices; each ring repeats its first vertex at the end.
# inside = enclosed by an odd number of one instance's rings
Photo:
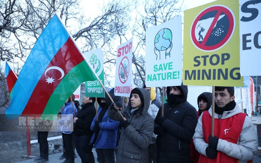
POLYGON ((19 74, 6 117, 57 114, 82 82, 97 78, 60 18, 54 15, 19 74))

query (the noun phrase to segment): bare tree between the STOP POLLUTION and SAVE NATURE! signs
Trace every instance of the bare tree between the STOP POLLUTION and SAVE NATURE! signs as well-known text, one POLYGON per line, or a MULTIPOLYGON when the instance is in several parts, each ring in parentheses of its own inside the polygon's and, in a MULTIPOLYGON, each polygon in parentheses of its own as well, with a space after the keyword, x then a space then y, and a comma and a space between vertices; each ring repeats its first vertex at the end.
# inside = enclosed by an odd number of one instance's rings
MULTIPOLYGON (((132 63, 134 84, 142 87, 145 84, 145 33, 146 29, 157 26, 178 16, 180 8, 177 0, 146 0, 144 5, 136 3, 137 17, 133 27, 136 46, 133 48, 132 63), (138 6, 144 6, 143 9, 138 6)), ((162 88, 158 87, 161 94, 162 88)))

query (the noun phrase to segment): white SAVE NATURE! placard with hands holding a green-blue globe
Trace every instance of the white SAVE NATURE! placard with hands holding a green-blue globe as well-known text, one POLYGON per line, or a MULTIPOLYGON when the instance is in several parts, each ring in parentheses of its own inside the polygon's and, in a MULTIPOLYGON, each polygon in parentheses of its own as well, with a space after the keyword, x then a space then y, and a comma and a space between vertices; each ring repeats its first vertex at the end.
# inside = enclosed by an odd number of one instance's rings
POLYGON ((181 16, 146 30, 147 87, 181 85, 181 16))

